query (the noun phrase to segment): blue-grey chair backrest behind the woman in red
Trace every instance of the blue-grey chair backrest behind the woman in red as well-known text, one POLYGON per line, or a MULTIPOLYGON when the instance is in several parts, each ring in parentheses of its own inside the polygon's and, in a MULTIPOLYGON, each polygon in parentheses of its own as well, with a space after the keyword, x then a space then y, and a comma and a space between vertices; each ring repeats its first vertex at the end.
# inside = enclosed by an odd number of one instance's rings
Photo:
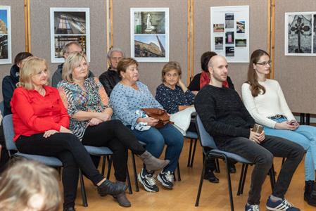
POLYGON ((2 121, 4 127, 4 140, 6 141, 6 149, 8 151, 18 151, 13 141, 14 130, 12 115, 6 115, 2 121))

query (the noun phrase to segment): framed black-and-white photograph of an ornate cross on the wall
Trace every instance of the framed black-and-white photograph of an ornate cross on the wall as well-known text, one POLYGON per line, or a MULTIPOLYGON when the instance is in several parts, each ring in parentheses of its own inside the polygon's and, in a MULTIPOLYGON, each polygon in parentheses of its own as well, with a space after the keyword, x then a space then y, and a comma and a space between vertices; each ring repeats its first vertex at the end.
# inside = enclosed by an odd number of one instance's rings
POLYGON ((286 56, 316 56, 316 12, 285 13, 286 56))

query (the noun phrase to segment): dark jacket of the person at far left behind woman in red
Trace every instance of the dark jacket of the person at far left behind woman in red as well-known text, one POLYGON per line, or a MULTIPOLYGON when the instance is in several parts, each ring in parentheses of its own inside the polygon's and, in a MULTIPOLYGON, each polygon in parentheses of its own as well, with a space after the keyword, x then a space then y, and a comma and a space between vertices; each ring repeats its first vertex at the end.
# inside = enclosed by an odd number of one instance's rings
POLYGON ((16 84, 19 82, 19 70, 17 65, 13 65, 10 70, 10 75, 7 75, 2 80, 2 95, 4 96, 4 116, 11 114, 11 98, 16 84))

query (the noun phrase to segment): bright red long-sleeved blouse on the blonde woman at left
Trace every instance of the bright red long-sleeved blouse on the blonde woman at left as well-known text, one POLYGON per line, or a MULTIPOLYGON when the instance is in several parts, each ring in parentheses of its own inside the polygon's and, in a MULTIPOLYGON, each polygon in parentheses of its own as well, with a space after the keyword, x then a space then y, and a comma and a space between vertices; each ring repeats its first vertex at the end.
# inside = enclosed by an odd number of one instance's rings
POLYGON ((35 90, 18 87, 13 92, 11 110, 13 114, 14 141, 20 135, 44 133, 47 130, 60 130, 61 126, 69 127, 69 116, 63 106, 58 90, 44 87, 45 96, 35 90))

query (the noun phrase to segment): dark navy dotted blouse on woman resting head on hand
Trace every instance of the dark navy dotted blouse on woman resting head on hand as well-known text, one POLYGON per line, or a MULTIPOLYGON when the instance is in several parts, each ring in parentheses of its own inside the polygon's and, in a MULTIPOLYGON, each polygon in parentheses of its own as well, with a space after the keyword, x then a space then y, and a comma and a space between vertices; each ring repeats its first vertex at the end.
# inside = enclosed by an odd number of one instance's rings
POLYGON ((156 90, 156 100, 163 106, 168 113, 177 113, 178 106, 191 106, 194 104, 194 94, 188 89, 185 93, 179 86, 175 90, 160 84, 156 90))

